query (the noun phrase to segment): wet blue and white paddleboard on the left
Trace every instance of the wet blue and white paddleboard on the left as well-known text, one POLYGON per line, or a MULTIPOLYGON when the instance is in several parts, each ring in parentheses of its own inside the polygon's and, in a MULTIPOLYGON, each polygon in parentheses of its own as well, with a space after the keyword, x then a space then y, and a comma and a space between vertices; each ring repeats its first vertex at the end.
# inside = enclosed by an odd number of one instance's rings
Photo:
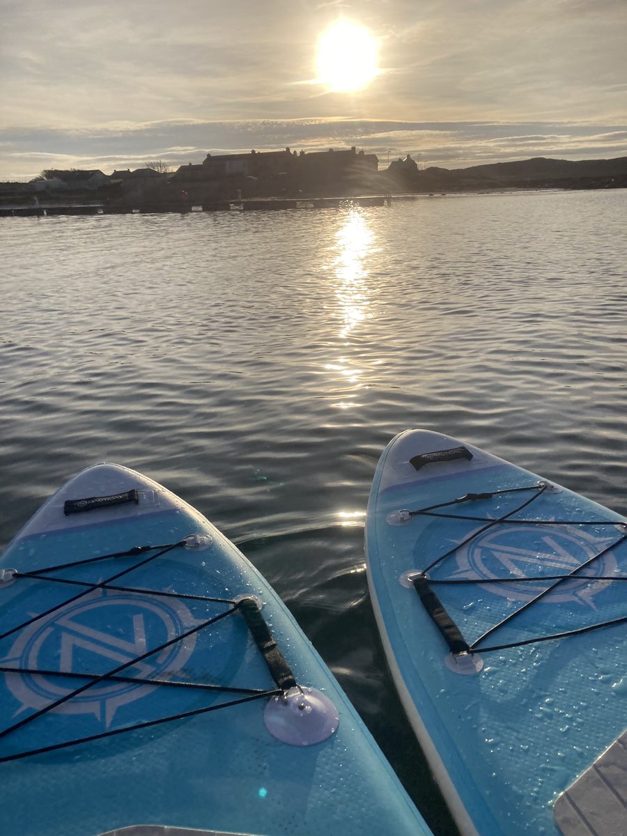
POLYGON ((68 482, 0 603, 3 833, 428 833, 277 595, 156 482, 68 482))

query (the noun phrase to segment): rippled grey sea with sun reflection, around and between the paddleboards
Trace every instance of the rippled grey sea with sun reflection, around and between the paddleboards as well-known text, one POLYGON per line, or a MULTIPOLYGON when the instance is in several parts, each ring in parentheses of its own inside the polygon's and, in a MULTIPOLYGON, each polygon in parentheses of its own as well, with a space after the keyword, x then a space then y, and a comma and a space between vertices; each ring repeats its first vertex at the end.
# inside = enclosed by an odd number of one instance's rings
POLYGON ((627 511, 626 209, 3 219, 0 544, 95 461, 163 482, 265 574, 451 833, 370 609, 370 481, 421 426, 627 511))

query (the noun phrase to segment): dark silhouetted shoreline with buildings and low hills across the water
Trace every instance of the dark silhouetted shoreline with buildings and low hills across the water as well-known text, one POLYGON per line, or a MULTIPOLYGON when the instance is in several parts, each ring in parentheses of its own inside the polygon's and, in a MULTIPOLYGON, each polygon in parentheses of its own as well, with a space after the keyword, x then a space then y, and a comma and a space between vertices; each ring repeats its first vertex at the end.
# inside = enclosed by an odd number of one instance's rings
POLYGON ((207 154, 170 171, 153 161, 131 171, 48 169, 28 183, 0 183, 0 216, 94 212, 190 212, 225 208, 383 205, 392 195, 441 195, 498 189, 627 186, 627 157, 533 160, 466 169, 421 168, 410 154, 380 169, 377 155, 355 146, 305 152, 290 148, 207 154))

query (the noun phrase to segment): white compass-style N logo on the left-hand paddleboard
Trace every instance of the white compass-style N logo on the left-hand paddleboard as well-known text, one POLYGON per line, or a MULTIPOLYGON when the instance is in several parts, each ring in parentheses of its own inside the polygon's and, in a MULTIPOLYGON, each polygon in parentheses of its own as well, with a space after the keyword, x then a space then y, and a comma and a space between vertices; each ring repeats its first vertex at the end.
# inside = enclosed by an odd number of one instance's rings
MULTIPOLYGON (((29 670, 102 674, 144 654, 150 645, 162 645, 196 624, 201 621, 194 619, 177 599, 95 589, 48 618, 25 627, 3 664, 29 670), (150 645, 147 635, 150 635, 150 645)), ((137 679, 172 679, 190 658, 195 645, 196 633, 193 633, 121 673, 137 679)), ((6 675, 8 690, 21 704, 15 716, 28 709, 45 708, 85 681, 45 673, 6 675)), ((91 714, 109 728, 120 706, 154 691, 155 686, 102 681, 53 711, 91 714)))

